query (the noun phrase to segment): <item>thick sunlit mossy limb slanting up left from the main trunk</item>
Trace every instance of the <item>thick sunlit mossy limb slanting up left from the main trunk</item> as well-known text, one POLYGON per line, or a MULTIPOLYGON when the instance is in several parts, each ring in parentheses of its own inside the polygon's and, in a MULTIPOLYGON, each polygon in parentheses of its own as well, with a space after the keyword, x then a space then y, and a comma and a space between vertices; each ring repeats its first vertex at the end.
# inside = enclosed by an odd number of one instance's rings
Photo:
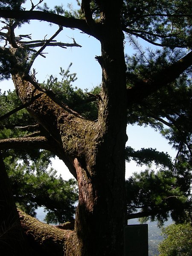
MULTIPOLYGON (((34 90, 33 84, 35 83, 32 79, 29 79, 30 81, 25 79, 28 78, 13 76, 23 103, 30 97, 29 91, 34 90)), ((39 91, 37 90, 36 93, 39 91)), ((78 113, 58 102, 55 96, 49 92, 43 93, 32 105, 28 106, 27 110, 48 131, 58 145, 64 146, 66 154, 82 157, 87 153, 85 148, 89 143, 84 141, 84 137, 86 133, 87 140, 89 140, 88 134, 93 132, 94 122, 83 119, 78 113)))

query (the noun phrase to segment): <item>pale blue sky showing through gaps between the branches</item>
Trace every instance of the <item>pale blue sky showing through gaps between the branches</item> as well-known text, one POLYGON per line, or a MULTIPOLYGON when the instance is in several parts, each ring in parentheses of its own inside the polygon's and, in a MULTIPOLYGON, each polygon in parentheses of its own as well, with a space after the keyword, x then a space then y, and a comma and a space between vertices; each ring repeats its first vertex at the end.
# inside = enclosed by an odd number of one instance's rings
MULTIPOLYGON (((38 1, 34 0, 33 3, 38 1)), ((45 2, 53 8, 55 5, 60 5, 66 3, 64 0, 45 0, 45 2)), ((70 2, 74 2, 70 1, 70 2)), ((42 5, 42 4, 41 4, 42 5)), ((76 6, 73 3, 74 7, 76 6)), ((30 9, 30 1, 26 1, 26 9, 30 9)), ((30 24, 25 24, 20 29, 17 29, 16 35, 32 34, 32 40, 42 40, 46 37, 49 39, 58 29, 58 26, 49 23, 40 22, 37 20, 30 21, 30 24)), ((42 82, 46 81, 49 75, 59 76, 60 67, 67 69, 70 62, 73 63, 70 71, 72 73, 77 73, 77 81, 75 81, 74 86, 80 87, 82 89, 91 88, 99 85, 101 83, 101 68, 99 63, 96 61, 95 56, 101 54, 100 43, 95 38, 81 33, 79 30, 72 30, 64 28, 63 31, 55 38, 63 43, 73 43, 74 38, 77 44, 82 47, 69 47, 67 49, 62 49, 59 47, 47 47, 44 52, 48 52, 46 58, 38 56, 33 64, 33 68, 37 72, 36 78, 42 82)), ((125 45, 125 53, 131 54, 133 49, 129 43, 125 45)), ((14 86, 11 80, 0 82, 1 91, 13 90, 14 86)), ((165 140, 160 134, 155 132, 152 128, 143 128, 137 125, 128 126, 128 142, 127 145, 135 148, 157 148, 159 151, 168 152, 173 158, 176 155, 175 150, 172 150, 171 145, 168 145, 168 141, 165 140)), ((58 170, 59 173, 63 174, 63 170, 66 168, 60 160, 53 160, 53 168, 58 170)), ((138 167, 133 162, 126 163, 126 177, 131 175, 132 172, 140 171, 144 167, 138 167)), ((66 172, 63 175, 64 179, 68 179, 70 173, 66 172)))

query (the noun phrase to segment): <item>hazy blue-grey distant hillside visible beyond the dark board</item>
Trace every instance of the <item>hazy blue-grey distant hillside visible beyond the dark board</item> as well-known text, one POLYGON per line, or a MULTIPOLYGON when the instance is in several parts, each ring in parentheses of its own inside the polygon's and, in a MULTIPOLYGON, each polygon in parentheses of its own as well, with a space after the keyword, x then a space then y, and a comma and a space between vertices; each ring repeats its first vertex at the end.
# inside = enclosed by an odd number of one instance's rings
MULTIPOLYGON (((140 224, 140 222, 138 219, 132 219, 128 221, 128 224, 140 224)), ((156 221, 148 221, 146 224, 148 224, 148 256, 158 256, 158 244, 163 240, 163 236, 160 235, 161 230, 157 227, 156 221)), ((170 224, 172 224, 171 218, 165 222, 164 226, 168 226, 170 224)))

